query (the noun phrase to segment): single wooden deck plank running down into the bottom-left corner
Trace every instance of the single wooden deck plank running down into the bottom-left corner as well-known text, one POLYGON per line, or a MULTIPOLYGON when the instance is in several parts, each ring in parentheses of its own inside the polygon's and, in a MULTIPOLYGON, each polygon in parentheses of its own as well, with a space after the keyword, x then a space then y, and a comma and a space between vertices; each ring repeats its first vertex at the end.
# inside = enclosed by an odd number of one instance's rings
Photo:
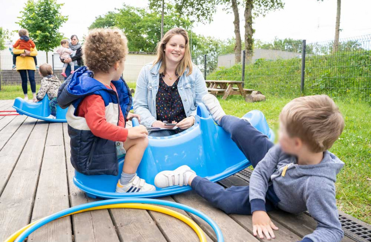
POLYGON ((0 241, 30 222, 48 123, 37 124, 0 197, 0 241))

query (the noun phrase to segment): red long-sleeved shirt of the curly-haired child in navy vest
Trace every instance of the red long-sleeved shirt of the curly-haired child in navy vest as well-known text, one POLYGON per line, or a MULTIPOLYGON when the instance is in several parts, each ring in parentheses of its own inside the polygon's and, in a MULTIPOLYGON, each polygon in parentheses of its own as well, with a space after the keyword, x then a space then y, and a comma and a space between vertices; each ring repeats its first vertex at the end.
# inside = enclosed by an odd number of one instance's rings
MULTIPOLYGON (((110 88, 106 85, 106 87, 110 88)), ((111 89, 116 88, 111 84, 111 89)), ((93 135, 112 141, 125 142, 128 137, 128 129, 125 129, 124 115, 119 107, 118 126, 107 122, 105 115, 104 100, 100 95, 86 96, 77 108, 77 116, 85 117, 86 123, 93 135)))

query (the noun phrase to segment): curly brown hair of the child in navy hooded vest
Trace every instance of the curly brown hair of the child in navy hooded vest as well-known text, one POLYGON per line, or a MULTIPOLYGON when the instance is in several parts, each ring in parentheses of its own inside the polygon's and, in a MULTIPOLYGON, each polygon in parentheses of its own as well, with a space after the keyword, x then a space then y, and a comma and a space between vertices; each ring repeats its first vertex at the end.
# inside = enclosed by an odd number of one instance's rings
POLYGON ((109 73, 128 53, 128 40, 119 29, 92 29, 82 46, 82 58, 93 72, 109 73))

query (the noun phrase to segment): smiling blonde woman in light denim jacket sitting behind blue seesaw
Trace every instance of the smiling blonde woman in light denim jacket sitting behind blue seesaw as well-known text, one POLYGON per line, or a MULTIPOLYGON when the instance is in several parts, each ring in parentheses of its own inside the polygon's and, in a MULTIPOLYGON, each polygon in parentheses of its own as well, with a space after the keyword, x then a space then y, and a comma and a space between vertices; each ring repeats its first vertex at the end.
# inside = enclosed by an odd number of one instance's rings
POLYGON ((188 34, 173 28, 158 43, 156 60, 139 74, 134 112, 144 126, 168 128, 151 131, 151 136, 174 135, 194 124, 197 105, 206 94, 204 77, 191 61, 188 34))

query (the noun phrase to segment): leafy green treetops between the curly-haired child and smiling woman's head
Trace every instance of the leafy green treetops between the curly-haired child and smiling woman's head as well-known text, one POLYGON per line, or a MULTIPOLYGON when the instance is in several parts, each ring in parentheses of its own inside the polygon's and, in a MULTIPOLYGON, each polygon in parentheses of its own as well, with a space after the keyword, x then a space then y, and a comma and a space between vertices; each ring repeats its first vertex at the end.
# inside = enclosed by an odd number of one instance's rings
MULTIPOLYGON (((174 27, 190 29, 191 22, 167 4, 164 16, 164 33, 174 27)), ((98 16, 92 28, 118 27, 128 38, 130 51, 155 52, 161 37, 161 13, 124 4, 121 9, 98 16)))

